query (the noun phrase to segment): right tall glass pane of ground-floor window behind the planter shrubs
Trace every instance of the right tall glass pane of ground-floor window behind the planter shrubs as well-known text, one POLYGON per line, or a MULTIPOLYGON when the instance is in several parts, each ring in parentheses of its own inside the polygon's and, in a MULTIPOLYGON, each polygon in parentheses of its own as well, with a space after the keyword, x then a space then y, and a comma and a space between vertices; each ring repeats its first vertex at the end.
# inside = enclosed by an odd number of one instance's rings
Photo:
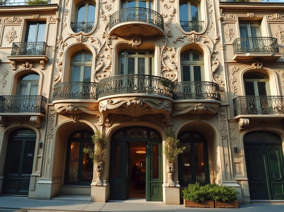
POLYGON ((196 182, 205 182, 203 143, 194 144, 196 182))

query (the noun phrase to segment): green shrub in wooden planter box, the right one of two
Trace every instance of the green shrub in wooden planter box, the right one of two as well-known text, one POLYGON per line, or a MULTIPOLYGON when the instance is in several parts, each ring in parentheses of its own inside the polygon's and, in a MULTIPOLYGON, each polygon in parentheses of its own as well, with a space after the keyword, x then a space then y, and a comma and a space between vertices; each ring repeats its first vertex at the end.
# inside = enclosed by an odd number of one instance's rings
POLYGON ((239 202, 237 200, 237 194, 235 188, 228 188, 225 185, 212 184, 210 190, 210 199, 215 201, 215 207, 225 208, 239 208, 239 202))

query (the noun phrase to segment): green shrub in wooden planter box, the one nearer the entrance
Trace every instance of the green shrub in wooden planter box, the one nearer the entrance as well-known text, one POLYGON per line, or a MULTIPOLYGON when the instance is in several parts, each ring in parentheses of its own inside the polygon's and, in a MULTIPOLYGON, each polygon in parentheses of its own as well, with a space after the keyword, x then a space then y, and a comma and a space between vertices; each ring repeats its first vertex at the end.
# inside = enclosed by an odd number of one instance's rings
POLYGON ((199 186, 199 183, 189 184, 183 192, 183 205, 185 207, 214 208, 214 201, 210 200, 211 185, 199 186))

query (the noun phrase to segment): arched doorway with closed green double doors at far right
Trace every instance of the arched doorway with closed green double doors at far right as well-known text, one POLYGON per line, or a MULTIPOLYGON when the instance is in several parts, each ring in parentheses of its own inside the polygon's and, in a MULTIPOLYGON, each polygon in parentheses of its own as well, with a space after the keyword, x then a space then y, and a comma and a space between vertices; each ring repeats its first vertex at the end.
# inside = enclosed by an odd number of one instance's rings
POLYGON ((279 135, 254 131, 244 136, 250 199, 284 200, 284 160, 279 135))

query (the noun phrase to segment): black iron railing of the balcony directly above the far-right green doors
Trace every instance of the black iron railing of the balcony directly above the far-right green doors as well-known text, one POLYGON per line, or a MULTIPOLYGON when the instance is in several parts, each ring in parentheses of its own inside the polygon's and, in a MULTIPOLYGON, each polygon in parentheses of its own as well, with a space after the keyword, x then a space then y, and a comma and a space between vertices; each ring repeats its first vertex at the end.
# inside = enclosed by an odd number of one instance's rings
POLYGON ((238 96, 233 104, 235 116, 284 113, 284 96, 238 96))

